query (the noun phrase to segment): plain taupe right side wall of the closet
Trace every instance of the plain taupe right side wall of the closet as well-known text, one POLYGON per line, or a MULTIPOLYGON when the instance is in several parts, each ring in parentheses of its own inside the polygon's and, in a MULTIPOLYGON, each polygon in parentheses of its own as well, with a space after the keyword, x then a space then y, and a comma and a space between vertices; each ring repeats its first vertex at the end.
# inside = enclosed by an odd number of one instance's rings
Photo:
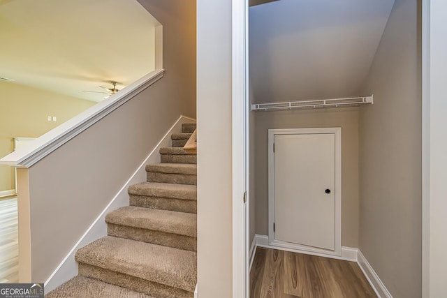
POLYGON ((393 297, 421 297, 420 3, 396 0, 360 111, 360 250, 393 297))

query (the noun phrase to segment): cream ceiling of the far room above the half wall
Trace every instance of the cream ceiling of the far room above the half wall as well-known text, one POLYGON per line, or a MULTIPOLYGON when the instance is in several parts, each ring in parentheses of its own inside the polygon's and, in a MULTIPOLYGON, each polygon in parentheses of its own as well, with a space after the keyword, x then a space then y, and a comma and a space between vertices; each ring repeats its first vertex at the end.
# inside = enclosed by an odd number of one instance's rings
POLYGON ((82 90, 154 70, 158 24, 136 0, 0 0, 0 77, 100 101, 82 90))

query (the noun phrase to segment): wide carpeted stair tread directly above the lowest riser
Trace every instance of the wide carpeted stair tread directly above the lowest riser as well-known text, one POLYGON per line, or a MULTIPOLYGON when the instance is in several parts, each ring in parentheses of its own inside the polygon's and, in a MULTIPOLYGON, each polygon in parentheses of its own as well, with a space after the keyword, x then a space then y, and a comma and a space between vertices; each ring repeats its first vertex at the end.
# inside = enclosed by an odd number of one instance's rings
POLYGON ((75 255, 78 262, 192 292, 197 281, 193 251, 106 236, 75 255))

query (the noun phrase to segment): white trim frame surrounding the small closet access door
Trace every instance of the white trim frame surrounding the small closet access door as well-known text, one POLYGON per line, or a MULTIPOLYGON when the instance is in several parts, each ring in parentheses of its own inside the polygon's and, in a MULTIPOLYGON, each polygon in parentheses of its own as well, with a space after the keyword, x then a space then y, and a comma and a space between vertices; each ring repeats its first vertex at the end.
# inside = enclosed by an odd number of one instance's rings
POLYGON ((268 130, 268 243, 293 251, 342 256, 342 128, 279 128, 268 130), (274 135, 335 135, 335 250, 292 244, 274 239, 274 135))

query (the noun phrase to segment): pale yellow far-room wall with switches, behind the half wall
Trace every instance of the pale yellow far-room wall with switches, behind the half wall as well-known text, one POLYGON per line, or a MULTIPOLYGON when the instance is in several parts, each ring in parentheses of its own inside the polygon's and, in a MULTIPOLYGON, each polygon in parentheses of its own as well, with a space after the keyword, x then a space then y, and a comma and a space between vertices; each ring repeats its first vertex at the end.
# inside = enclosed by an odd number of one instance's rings
MULTIPOLYGON (((39 137, 95 104, 15 82, 0 81, 0 90, 0 158, 13 151, 13 137, 39 137)), ((0 165, 0 191, 11 189, 13 168, 0 165)))

